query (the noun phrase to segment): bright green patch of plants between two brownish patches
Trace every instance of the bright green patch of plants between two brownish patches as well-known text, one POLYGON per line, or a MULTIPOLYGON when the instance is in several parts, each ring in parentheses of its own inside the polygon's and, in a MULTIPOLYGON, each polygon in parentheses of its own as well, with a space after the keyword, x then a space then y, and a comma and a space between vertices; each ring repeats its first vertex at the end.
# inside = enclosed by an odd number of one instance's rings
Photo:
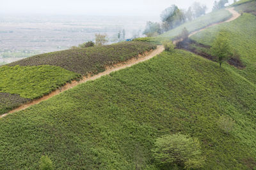
POLYGON ((0 67, 0 92, 35 99, 49 94, 52 90, 79 76, 56 66, 2 66, 0 67))

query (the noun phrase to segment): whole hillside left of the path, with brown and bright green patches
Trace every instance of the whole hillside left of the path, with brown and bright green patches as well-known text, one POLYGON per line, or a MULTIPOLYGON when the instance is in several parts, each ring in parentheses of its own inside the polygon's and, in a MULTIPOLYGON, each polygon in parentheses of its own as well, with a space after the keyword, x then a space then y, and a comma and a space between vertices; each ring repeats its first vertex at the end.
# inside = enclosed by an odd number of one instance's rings
POLYGON ((0 115, 56 90, 82 75, 153 50, 156 45, 125 42, 45 53, 0 67, 0 115), (51 66, 50 66, 51 65, 51 66))

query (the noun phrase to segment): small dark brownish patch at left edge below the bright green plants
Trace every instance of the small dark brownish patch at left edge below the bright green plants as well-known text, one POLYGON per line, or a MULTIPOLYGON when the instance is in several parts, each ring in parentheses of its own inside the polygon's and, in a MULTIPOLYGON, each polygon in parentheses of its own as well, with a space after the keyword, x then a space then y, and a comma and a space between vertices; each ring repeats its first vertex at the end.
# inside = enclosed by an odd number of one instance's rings
POLYGON ((28 101, 30 101, 30 99, 20 97, 18 94, 0 92, 0 115, 20 106, 22 103, 27 103, 28 101))

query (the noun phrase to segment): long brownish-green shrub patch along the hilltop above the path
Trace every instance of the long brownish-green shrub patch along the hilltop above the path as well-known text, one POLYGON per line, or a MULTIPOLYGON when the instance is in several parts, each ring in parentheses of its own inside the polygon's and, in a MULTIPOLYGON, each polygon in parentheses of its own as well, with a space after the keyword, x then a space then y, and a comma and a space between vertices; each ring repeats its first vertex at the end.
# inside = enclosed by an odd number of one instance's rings
POLYGON ((116 43, 114 45, 76 48, 60 52, 35 55, 9 64, 10 66, 60 66, 79 74, 99 73, 105 66, 137 57, 155 49, 155 45, 138 41, 116 43))

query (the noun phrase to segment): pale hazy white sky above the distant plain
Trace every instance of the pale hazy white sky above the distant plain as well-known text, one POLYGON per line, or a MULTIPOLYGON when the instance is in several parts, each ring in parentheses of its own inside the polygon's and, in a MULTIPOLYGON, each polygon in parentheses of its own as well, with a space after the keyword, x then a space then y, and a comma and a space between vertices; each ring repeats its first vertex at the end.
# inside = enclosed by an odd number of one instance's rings
MULTIPOLYGON (((214 2, 197 1, 206 4, 209 10, 214 2)), ((192 3, 189 0, 0 0, 0 13, 154 16, 171 4, 188 8, 192 3)))

